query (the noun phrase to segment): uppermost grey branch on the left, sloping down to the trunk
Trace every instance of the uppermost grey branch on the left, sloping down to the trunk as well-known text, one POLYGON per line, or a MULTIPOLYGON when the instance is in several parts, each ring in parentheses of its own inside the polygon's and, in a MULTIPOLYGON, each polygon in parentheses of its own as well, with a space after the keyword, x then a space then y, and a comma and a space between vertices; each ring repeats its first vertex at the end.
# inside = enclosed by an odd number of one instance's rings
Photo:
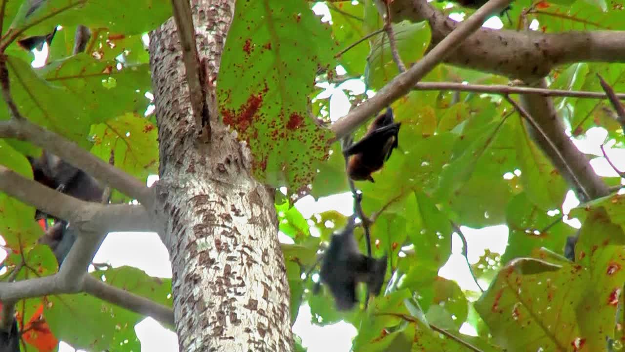
MULTIPOLYGON (((21 116, 19 111, 16 111, 16 113, 17 116, 21 116)), ((69 142, 56 133, 39 127, 24 118, 1 121, 0 138, 27 140, 57 155, 74 167, 89 173, 89 175, 100 180, 103 184, 111 185, 111 187, 118 189, 123 194, 138 199, 148 209, 153 204, 151 189, 139 180, 100 160, 73 142, 69 142)))

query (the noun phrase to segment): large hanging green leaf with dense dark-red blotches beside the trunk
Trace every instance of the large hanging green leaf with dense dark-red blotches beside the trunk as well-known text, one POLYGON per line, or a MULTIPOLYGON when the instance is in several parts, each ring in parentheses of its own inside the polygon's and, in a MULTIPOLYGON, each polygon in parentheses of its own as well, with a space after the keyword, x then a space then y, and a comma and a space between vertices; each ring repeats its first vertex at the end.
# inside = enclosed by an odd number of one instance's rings
POLYGON ((254 174, 289 194, 306 190, 331 133, 309 115, 319 68, 334 68, 330 28, 301 1, 237 1, 221 59, 224 123, 252 150, 254 174), (253 29, 253 30, 251 30, 253 29))

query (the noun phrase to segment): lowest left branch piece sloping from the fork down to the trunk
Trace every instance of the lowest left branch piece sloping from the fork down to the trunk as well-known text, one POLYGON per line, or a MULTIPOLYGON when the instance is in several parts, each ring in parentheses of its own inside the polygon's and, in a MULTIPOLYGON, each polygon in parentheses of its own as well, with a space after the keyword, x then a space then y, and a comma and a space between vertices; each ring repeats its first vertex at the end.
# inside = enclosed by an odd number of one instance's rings
POLYGON ((171 308, 132 292, 105 284, 91 275, 86 276, 84 279, 84 291, 103 301, 116 304, 144 316, 151 316, 161 323, 174 326, 174 311, 171 308))

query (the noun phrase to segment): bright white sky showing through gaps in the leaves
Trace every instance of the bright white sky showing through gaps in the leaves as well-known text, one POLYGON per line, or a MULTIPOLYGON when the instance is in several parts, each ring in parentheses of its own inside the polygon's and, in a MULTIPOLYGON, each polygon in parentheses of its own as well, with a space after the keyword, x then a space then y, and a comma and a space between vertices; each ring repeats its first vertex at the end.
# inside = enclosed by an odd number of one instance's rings
MULTIPOLYGON (((317 14, 324 14, 324 19, 329 19, 329 11, 324 4, 317 4, 313 8, 317 14)), ((452 13, 449 17, 461 20, 464 18, 463 13, 452 13)), ((494 16, 489 19, 484 26, 489 28, 501 28, 501 20, 494 16)), ((538 23, 534 20, 531 24, 532 29, 536 29, 538 23)), ((47 56, 47 47, 37 54, 36 60, 32 66, 41 66, 47 56)), ((337 68, 337 71, 342 68, 337 68)), ((330 117, 332 121, 347 114, 349 110, 349 101, 344 90, 354 91, 360 94, 364 91, 364 84, 359 80, 349 80, 339 86, 321 85, 326 88, 318 98, 330 97, 330 117)), ((594 154, 599 158, 592 160, 591 165, 599 175, 616 177, 617 173, 608 165, 605 158, 601 157, 599 145, 604 142, 607 132, 602 128, 592 128, 581 141, 575 141, 577 147, 584 153, 594 154)), ((613 163, 621 170, 625 170, 625 150, 612 149, 614 142, 607 143, 606 152, 613 163)), ((152 184, 156 177, 151 177, 148 184, 152 184)), ((569 209, 576 206, 579 202, 575 199, 572 192, 569 192, 564 204, 565 213, 569 209)), ((312 214, 323 212, 326 210, 338 210, 344 215, 352 214, 352 197, 351 194, 332 195, 324 197, 317 202, 311 196, 307 196, 297 202, 296 207, 301 211, 305 218, 312 214)), ((568 220, 569 224, 579 227, 579 221, 568 220)), ((469 261, 477 262, 479 256, 484 254, 485 249, 492 252, 502 254, 507 244, 507 227, 505 225, 497 225, 486 227, 481 230, 469 229, 461 227, 462 232, 466 236, 469 244, 469 261)), ((472 281, 469 274, 469 268, 461 256, 462 242, 459 237, 454 234, 452 239, 452 255, 445 266, 439 270, 439 275, 458 282, 462 289, 479 291, 476 284, 472 281)), ((109 234, 98 254, 94 258, 94 262, 107 262, 113 267, 134 266, 139 267, 151 276, 171 277, 171 263, 167 249, 160 241, 159 237, 153 232, 115 232, 109 234), (136 248, 142 248, 142 251, 136 251, 136 248)), ((482 284, 482 282, 481 282, 482 284)), ((486 285, 482 285, 486 288, 486 285)), ((347 352, 351 348, 351 339, 356 336, 356 329, 348 323, 337 323, 330 326, 320 327, 312 325, 311 313, 307 304, 302 304, 299 309, 297 321, 293 326, 293 331, 302 338, 302 344, 308 348, 309 352, 347 352), (322 338, 319 338, 322 336, 322 338)), ((146 318, 135 326, 135 331, 141 341, 142 351, 159 351, 174 352, 178 351, 178 341, 173 331, 163 328, 161 324, 152 318, 146 318)), ((461 331, 466 334, 475 334, 475 329, 468 324, 464 324, 461 331)), ((68 344, 61 342, 59 352, 75 351, 68 344)))

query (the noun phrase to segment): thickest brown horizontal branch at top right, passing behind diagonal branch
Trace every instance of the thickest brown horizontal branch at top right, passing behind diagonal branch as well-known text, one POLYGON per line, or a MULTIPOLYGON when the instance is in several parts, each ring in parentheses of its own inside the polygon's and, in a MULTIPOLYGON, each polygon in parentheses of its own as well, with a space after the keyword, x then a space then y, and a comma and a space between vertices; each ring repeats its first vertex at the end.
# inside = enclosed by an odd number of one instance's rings
MULTIPOLYGON (((447 17, 427 0, 394 0, 390 3, 393 21, 419 22, 426 19, 432 30, 431 46, 442 42, 462 23, 447 17)), ((586 62, 621 62, 625 57, 622 31, 569 31, 541 33, 481 28, 449 54, 446 62, 519 78, 532 83, 557 65, 586 62)))

